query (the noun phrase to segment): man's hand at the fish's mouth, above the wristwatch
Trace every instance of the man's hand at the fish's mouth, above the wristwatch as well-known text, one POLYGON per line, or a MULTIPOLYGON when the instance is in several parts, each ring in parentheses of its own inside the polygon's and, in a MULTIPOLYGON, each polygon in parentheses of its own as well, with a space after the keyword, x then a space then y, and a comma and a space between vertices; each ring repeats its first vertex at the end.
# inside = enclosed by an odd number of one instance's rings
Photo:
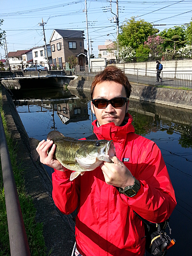
POLYGON ((133 185, 135 180, 130 170, 116 156, 111 157, 111 160, 114 163, 104 162, 101 165, 105 182, 123 189, 133 185))

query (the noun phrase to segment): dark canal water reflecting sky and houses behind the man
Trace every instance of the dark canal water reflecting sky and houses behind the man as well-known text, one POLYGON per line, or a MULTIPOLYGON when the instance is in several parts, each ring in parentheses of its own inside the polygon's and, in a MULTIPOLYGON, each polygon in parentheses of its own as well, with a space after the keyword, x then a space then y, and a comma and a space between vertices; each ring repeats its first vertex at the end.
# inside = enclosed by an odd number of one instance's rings
MULTIPOLYGON (((29 137, 46 139, 50 131, 82 138, 92 134, 95 116, 90 93, 82 90, 11 90, 29 137)), ((130 99, 137 134, 156 142, 172 180, 177 206, 170 218, 176 244, 167 255, 190 256, 192 230, 192 111, 130 99)), ((52 169, 47 168, 51 176, 52 169)))

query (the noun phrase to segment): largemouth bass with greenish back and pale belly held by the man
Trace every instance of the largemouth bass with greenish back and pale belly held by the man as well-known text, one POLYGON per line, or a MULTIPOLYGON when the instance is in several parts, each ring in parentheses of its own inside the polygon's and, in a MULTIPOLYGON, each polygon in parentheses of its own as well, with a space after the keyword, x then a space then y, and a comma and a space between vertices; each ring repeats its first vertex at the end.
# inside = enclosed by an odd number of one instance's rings
MULTIPOLYGON (((57 159, 67 169, 74 170, 70 180, 74 180, 80 173, 94 170, 103 162, 112 163, 110 157, 115 156, 115 146, 112 140, 77 140, 65 137, 58 131, 52 131, 47 139, 56 145, 54 159, 57 159)), ((30 138, 33 160, 38 153, 36 147, 40 141, 30 138)), ((51 148, 49 148, 49 151, 51 148)))

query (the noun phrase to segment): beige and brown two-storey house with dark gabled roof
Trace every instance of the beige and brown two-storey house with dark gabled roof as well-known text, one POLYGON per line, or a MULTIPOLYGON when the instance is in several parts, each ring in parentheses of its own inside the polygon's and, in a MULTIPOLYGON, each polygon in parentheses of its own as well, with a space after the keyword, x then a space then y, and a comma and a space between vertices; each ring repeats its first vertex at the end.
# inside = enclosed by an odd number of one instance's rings
POLYGON ((85 66, 87 55, 83 33, 80 30, 54 29, 49 40, 54 67, 63 68, 66 62, 73 66, 85 66))

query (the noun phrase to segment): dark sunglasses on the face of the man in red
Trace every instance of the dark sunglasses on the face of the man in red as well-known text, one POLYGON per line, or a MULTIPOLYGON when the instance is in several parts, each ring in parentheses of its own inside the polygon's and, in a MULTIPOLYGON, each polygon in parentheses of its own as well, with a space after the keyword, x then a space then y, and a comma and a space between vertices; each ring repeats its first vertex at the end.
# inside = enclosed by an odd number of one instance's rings
POLYGON ((96 106, 97 109, 105 109, 109 102, 112 104, 113 108, 120 108, 124 106, 124 104, 129 100, 129 98, 119 97, 113 99, 92 99, 93 104, 96 106))

